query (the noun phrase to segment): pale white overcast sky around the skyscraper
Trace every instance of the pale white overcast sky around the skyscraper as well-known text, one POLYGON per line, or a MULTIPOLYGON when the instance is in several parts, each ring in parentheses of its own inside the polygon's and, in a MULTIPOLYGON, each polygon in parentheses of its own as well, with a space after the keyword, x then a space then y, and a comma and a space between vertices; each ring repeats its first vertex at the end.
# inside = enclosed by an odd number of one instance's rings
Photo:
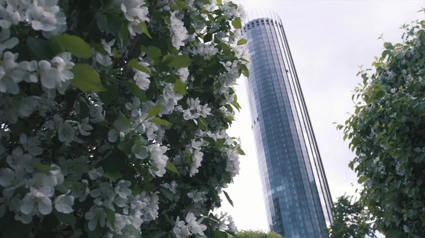
MULTIPOLYGON (((385 41, 400 42, 399 26, 418 18, 425 0, 387 1, 286 1, 234 0, 251 16, 274 11, 283 21, 293 54, 319 151, 322 155, 331 195, 353 194, 356 174, 348 168, 353 153, 334 121, 344 123, 353 111, 352 90, 361 82, 358 66, 370 68, 374 56, 382 53, 385 41), (257 11, 257 12, 256 12, 257 11)), ((251 17, 252 18, 252 17, 251 17)), ((242 110, 229 130, 242 139, 246 155, 240 157, 241 171, 234 184, 225 189, 234 208, 222 197, 222 209, 234 217, 239 230, 268 230, 259 170, 256 162, 251 116, 245 81, 237 86, 242 110)))

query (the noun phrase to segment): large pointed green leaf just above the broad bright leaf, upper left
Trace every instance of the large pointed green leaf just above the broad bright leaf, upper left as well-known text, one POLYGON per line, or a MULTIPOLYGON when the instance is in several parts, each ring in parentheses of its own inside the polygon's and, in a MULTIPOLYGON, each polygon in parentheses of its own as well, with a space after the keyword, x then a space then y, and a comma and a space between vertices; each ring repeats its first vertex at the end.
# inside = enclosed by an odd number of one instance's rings
POLYGON ((57 40, 65 51, 71 52, 74 56, 87 58, 93 55, 90 45, 80 37, 64 33, 62 35, 55 35, 53 38, 57 40))

